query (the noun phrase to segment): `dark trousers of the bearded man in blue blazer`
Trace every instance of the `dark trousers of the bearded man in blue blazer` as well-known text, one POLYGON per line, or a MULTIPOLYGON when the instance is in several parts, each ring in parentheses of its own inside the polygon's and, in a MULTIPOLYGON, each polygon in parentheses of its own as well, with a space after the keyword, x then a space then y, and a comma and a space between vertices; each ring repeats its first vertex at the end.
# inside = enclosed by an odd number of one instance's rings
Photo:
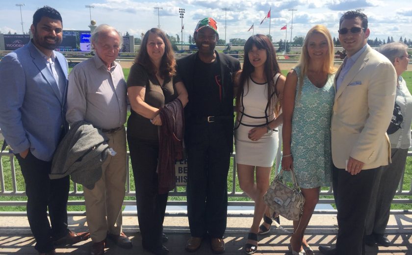
POLYGON ((51 180, 49 174, 52 162, 40 160, 30 152, 26 158, 22 158, 20 154, 16 154, 16 158, 26 183, 27 219, 36 239, 34 248, 39 253, 50 252, 53 241, 65 236, 69 231, 67 200, 70 177, 51 180), (50 222, 47 218, 48 208, 50 222))

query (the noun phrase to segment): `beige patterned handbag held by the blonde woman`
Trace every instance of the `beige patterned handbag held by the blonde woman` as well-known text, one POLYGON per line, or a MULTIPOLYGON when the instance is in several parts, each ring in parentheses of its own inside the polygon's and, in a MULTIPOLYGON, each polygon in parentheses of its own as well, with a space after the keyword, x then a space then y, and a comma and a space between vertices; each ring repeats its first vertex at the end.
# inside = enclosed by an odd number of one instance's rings
POLYGON ((290 170, 293 187, 283 183, 283 170, 275 177, 263 196, 263 201, 271 210, 291 221, 298 221, 303 213, 305 197, 300 192, 295 173, 290 170))

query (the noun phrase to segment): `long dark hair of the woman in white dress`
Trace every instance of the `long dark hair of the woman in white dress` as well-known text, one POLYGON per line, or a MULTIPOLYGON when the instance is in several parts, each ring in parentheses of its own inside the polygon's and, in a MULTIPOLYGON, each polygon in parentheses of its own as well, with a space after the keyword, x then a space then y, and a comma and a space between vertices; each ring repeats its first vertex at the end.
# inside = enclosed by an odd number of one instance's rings
MULTIPOLYGON (((269 100, 269 109, 272 109, 272 100, 270 100, 270 96, 273 94, 273 92, 276 92, 276 84, 275 81, 273 80, 273 77, 281 72, 281 69, 279 67, 278 61, 276 60, 276 53, 275 49, 273 48, 272 43, 270 42, 269 38, 267 36, 262 35, 262 34, 256 34, 252 35, 249 37, 249 39, 245 43, 245 48, 244 48, 244 61, 243 61, 243 69, 240 73, 240 77, 238 79, 238 90, 236 94, 236 106, 237 106, 237 111, 239 112, 239 106, 240 106, 240 98, 243 94, 245 82, 247 83, 248 90, 249 90, 249 77, 250 75, 255 71, 255 67, 250 63, 249 60, 249 51, 252 50, 253 46, 256 46, 256 48, 260 49, 265 49, 266 50, 266 62, 264 64, 264 75, 266 77, 266 82, 267 82, 267 98, 269 100)), ((279 95, 277 95, 279 96, 279 95)), ((280 101, 278 101, 277 105, 275 105, 275 113, 276 115, 279 113, 281 109, 280 101)))

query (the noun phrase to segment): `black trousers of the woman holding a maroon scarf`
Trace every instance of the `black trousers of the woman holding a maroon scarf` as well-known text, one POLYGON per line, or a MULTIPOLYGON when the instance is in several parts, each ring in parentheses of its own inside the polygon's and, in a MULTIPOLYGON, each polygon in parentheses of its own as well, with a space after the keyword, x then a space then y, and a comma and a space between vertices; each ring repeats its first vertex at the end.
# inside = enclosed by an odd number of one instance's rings
POLYGON ((158 140, 142 140, 128 135, 131 167, 136 186, 137 219, 142 246, 153 249, 162 245, 166 194, 158 194, 158 140))

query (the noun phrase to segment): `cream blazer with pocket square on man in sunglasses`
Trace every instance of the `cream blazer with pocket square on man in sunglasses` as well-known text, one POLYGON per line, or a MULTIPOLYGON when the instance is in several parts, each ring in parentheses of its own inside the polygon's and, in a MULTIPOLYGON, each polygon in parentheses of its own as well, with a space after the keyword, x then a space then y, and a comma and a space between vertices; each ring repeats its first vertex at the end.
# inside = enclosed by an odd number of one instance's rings
POLYGON ((386 129, 392 118, 396 72, 392 63, 369 46, 336 91, 332 115, 332 159, 345 169, 349 156, 371 169, 390 163, 386 129))

